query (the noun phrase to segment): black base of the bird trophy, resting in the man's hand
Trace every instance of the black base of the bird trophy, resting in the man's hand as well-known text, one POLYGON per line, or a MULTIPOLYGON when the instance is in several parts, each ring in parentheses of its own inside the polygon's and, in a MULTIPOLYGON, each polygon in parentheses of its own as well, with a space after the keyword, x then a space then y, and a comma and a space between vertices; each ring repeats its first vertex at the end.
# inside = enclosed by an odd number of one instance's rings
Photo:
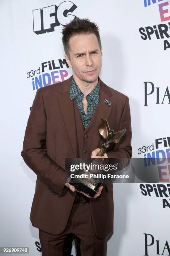
POLYGON ((95 196, 102 183, 103 182, 101 179, 97 183, 91 183, 87 180, 82 181, 80 179, 71 179, 69 182, 70 185, 74 186, 77 190, 84 192, 90 197, 95 196))

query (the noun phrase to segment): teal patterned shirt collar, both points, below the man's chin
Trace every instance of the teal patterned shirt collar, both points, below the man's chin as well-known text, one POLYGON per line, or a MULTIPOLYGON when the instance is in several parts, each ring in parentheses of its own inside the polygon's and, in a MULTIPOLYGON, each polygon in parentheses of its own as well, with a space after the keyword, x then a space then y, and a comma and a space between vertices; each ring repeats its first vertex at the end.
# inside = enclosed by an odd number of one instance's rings
MULTIPOLYGON (((70 100, 73 100, 77 95, 79 95, 81 92, 80 88, 75 82, 75 79, 72 76, 71 79, 71 86, 70 86, 70 100)), ((91 98, 95 102, 97 102, 100 94, 100 77, 98 77, 98 83, 93 88, 93 90, 86 96, 87 98, 91 98)))

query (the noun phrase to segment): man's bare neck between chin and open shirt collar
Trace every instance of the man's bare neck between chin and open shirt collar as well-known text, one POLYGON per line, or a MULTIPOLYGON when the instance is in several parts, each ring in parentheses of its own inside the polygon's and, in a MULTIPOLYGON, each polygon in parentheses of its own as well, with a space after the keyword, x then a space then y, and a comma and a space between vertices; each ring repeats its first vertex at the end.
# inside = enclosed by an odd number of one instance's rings
POLYGON ((79 79, 75 74, 73 74, 73 78, 84 96, 88 95, 98 83, 98 77, 95 81, 92 82, 83 81, 79 79))

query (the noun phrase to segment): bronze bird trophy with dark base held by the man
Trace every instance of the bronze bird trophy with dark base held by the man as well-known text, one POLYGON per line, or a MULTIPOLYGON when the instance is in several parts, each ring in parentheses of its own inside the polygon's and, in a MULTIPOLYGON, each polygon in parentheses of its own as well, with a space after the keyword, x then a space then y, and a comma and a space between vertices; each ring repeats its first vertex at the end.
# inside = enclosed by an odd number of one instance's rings
MULTIPOLYGON (((97 156, 104 156, 107 148, 110 146, 110 143, 118 143, 120 141, 120 138, 124 135, 126 128, 114 132, 113 130, 110 130, 108 122, 106 119, 101 118, 100 125, 99 125, 99 133, 106 141, 102 144, 102 148, 100 149, 97 156)), ((80 174, 85 173, 81 172, 80 174)), ((88 174, 92 174, 94 172, 88 172, 88 174)), ((99 172, 98 172, 99 173, 99 172)), ((73 185, 78 191, 82 191, 85 194, 89 195, 90 197, 94 197, 97 193, 97 190, 102 185, 103 181, 100 178, 79 178, 79 179, 71 179, 69 182, 71 185, 73 185)))

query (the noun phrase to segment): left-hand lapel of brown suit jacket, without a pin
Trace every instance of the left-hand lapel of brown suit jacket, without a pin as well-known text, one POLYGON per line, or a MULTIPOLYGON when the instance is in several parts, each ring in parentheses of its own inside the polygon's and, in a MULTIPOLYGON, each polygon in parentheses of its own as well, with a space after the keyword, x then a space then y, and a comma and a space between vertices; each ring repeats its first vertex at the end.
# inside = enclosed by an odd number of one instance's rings
POLYGON ((72 146, 72 151, 74 157, 77 158, 77 138, 76 138, 76 127, 75 127, 75 115, 73 101, 70 100, 70 85, 72 76, 65 80, 60 87, 59 92, 57 92, 57 100, 59 108, 62 114, 62 118, 67 130, 67 135, 70 139, 70 144, 72 146))

